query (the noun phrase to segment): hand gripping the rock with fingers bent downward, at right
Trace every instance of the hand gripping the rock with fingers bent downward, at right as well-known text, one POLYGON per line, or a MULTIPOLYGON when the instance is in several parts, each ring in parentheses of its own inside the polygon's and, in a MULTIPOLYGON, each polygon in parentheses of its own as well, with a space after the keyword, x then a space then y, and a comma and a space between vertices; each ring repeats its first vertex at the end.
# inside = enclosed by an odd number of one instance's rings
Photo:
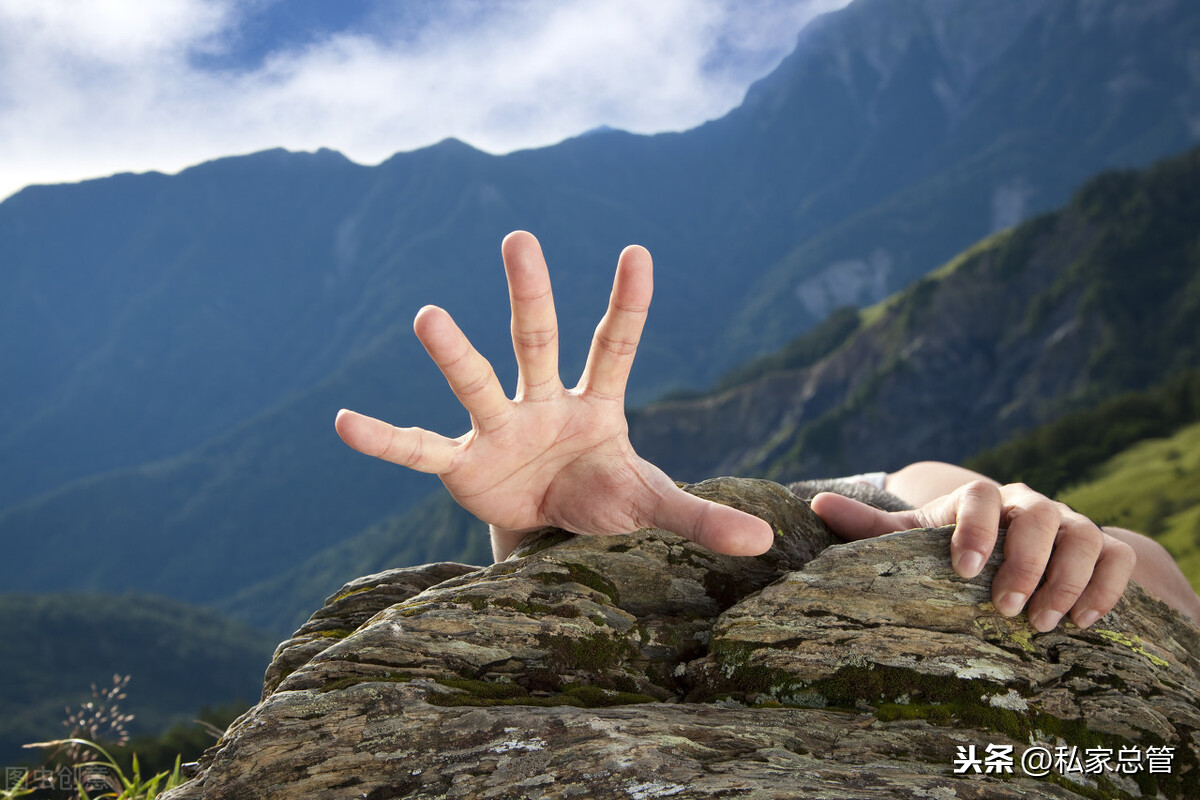
POLYGON ((895 513, 824 493, 812 498, 812 510, 835 534, 851 540, 954 523, 950 564, 965 578, 979 573, 997 531, 1006 527, 1004 561, 991 583, 992 603, 1006 616, 1026 608, 1038 631, 1054 630, 1068 612, 1079 627, 1109 613, 1138 560, 1127 543, 1022 483, 997 487, 972 481, 916 511, 895 513))

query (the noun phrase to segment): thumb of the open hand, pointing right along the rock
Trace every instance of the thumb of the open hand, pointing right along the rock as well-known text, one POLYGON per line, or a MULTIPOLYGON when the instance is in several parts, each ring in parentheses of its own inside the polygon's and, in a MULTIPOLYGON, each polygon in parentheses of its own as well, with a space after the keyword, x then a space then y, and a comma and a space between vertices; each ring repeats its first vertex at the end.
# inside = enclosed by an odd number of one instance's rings
POLYGON ((775 541, 767 521, 678 488, 662 497, 652 524, 727 555, 761 555, 775 541))

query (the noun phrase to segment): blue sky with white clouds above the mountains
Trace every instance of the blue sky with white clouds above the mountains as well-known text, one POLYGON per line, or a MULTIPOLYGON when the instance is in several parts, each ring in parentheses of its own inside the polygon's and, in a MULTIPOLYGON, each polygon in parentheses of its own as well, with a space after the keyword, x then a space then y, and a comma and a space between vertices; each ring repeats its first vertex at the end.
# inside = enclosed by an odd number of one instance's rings
POLYGON ((331 148, 502 154, 734 108, 848 0, 0 0, 0 198, 331 148))

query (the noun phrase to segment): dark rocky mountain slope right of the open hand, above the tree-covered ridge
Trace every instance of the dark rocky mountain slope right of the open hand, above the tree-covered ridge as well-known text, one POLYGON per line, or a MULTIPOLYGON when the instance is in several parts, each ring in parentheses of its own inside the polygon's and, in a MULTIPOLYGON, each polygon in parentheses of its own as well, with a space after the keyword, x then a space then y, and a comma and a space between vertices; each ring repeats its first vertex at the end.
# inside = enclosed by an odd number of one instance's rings
POLYGON ((864 309, 815 362, 643 409, 630 435, 677 480, 961 461, 1200 366, 1196 230, 1200 149, 1102 174, 864 309))

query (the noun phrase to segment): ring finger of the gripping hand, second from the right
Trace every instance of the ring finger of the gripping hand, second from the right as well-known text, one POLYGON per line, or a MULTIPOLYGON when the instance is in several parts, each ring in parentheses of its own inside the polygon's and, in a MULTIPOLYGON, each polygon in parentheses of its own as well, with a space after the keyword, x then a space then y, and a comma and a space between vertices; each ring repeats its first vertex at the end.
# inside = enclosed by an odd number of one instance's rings
POLYGON ((1058 527, 1045 581, 1025 612, 1038 631, 1052 631, 1092 581, 1104 534, 1082 515, 1066 513, 1058 527))

